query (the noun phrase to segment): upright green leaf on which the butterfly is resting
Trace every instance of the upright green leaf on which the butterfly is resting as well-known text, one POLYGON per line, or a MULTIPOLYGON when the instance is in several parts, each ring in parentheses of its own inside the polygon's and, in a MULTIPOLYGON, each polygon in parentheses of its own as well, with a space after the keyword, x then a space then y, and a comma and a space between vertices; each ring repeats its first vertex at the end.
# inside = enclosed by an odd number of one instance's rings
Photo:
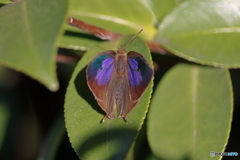
MULTIPOLYGON (((118 46, 132 36, 118 40, 118 46)), ((65 122, 70 142, 81 159, 123 159, 134 141, 149 105, 153 82, 149 84, 139 103, 128 115, 128 123, 122 118, 106 120, 86 82, 86 66, 97 54, 114 49, 109 42, 89 50, 75 68, 65 99, 65 122)), ((141 53, 148 62, 151 55, 146 44, 136 38, 125 48, 141 53)), ((152 63, 150 63, 152 65, 152 63)))

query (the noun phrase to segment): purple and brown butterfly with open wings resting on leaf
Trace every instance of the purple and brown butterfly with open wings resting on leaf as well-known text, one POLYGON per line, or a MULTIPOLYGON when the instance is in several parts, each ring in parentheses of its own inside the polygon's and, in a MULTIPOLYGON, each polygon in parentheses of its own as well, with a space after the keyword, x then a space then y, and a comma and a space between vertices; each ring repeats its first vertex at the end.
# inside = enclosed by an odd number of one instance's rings
POLYGON ((114 119, 116 109, 117 117, 127 121, 128 113, 136 106, 152 79, 153 69, 145 58, 135 51, 126 53, 124 49, 138 34, 117 52, 107 50, 98 54, 86 69, 88 86, 106 113, 102 122, 106 118, 114 119))

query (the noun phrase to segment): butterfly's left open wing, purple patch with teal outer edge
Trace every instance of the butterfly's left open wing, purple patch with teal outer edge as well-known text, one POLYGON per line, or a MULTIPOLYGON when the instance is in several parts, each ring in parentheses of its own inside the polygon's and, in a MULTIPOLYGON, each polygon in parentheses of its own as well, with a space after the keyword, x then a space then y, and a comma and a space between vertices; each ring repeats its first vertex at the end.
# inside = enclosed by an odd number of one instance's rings
POLYGON ((108 50, 98 54, 88 65, 87 82, 90 90, 93 92, 95 99, 100 107, 107 113, 109 118, 114 118, 109 115, 114 107, 114 98, 109 90, 109 82, 114 71, 114 58, 116 52, 108 50))

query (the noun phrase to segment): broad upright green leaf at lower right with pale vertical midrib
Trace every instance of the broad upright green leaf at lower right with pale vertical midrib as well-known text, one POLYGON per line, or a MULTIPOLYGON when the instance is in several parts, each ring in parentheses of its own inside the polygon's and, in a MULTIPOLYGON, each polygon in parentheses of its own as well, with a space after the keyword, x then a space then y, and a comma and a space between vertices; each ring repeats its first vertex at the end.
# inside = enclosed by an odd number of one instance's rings
POLYGON ((232 110, 228 70, 176 65, 154 93, 148 114, 150 147, 158 158, 209 159, 211 151, 224 151, 232 110))

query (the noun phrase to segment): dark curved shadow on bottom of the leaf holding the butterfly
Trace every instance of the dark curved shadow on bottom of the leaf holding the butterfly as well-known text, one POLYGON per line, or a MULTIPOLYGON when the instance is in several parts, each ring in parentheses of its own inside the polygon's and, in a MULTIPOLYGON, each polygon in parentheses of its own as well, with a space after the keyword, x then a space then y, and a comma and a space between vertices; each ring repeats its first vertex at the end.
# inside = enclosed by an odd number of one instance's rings
POLYGON ((75 148, 76 152, 80 154, 80 158, 88 159, 91 157, 91 153, 99 149, 102 151, 102 153, 99 153, 102 156, 98 157, 100 159, 122 160, 125 158, 137 134, 137 130, 126 128, 113 129, 107 126, 106 128, 105 132, 99 132, 91 136, 91 138, 86 139, 84 143, 75 148))

